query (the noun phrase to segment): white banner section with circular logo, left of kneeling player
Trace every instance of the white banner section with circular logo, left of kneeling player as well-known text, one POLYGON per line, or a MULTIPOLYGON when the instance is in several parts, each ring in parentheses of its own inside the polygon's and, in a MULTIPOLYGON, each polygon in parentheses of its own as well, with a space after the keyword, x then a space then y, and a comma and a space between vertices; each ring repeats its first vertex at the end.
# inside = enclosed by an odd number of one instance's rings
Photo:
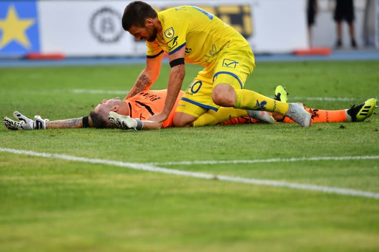
POLYGON ((66 56, 134 54, 121 26, 123 1, 39 1, 41 53, 66 56))

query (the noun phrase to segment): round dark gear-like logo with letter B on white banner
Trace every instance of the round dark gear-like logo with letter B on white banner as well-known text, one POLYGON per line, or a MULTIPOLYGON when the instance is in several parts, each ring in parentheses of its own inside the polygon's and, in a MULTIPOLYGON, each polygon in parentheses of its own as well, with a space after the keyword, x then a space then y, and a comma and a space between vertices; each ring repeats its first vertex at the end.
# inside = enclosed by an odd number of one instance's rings
POLYGON ((124 34, 121 19, 121 15, 114 9, 101 8, 91 17, 89 26, 92 35, 102 43, 117 42, 124 34))

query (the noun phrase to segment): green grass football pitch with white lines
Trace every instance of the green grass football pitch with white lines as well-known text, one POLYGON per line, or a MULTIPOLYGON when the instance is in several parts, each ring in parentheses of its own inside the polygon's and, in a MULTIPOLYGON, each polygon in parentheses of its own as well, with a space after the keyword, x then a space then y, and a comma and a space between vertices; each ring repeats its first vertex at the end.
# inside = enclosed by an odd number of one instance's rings
MULTIPOLYGON (((123 98, 143 65, 0 69, 0 115, 58 120, 123 98)), ((165 64, 152 89, 167 86, 165 64)), ((186 66, 183 90, 201 70, 186 66)), ((245 87, 344 109, 379 61, 258 63, 245 87)), ((379 108, 376 109, 379 112, 379 108)), ((379 251, 379 114, 360 123, 152 131, 0 126, 1 252, 379 251)))

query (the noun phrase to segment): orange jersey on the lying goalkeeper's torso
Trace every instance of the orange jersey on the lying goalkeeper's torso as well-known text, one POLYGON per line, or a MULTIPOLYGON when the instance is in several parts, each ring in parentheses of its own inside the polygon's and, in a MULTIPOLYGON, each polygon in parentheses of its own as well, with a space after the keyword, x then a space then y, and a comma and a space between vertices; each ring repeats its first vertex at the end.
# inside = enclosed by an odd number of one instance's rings
MULTIPOLYGON (((174 117, 175 109, 179 104, 184 92, 180 91, 175 105, 172 108, 167 120, 163 121, 163 128, 173 126, 172 119, 174 117)), ((130 117, 138 118, 140 120, 147 120, 150 116, 157 114, 163 110, 164 102, 167 96, 167 89, 162 90, 146 90, 139 94, 124 99, 130 110, 130 117)))

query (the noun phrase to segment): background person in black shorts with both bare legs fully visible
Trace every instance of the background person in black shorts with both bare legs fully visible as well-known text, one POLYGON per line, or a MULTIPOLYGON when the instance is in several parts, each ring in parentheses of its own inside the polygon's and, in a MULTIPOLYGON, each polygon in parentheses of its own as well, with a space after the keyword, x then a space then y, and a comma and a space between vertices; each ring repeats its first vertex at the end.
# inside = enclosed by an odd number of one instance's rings
POLYGON ((337 23, 337 42, 336 47, 342 46, 342 20, 349 25, 351 47, 357 48, 354 35, 354 3, 353 0, 336 0, 336 8, 334 10, 334 20, 337 23))

